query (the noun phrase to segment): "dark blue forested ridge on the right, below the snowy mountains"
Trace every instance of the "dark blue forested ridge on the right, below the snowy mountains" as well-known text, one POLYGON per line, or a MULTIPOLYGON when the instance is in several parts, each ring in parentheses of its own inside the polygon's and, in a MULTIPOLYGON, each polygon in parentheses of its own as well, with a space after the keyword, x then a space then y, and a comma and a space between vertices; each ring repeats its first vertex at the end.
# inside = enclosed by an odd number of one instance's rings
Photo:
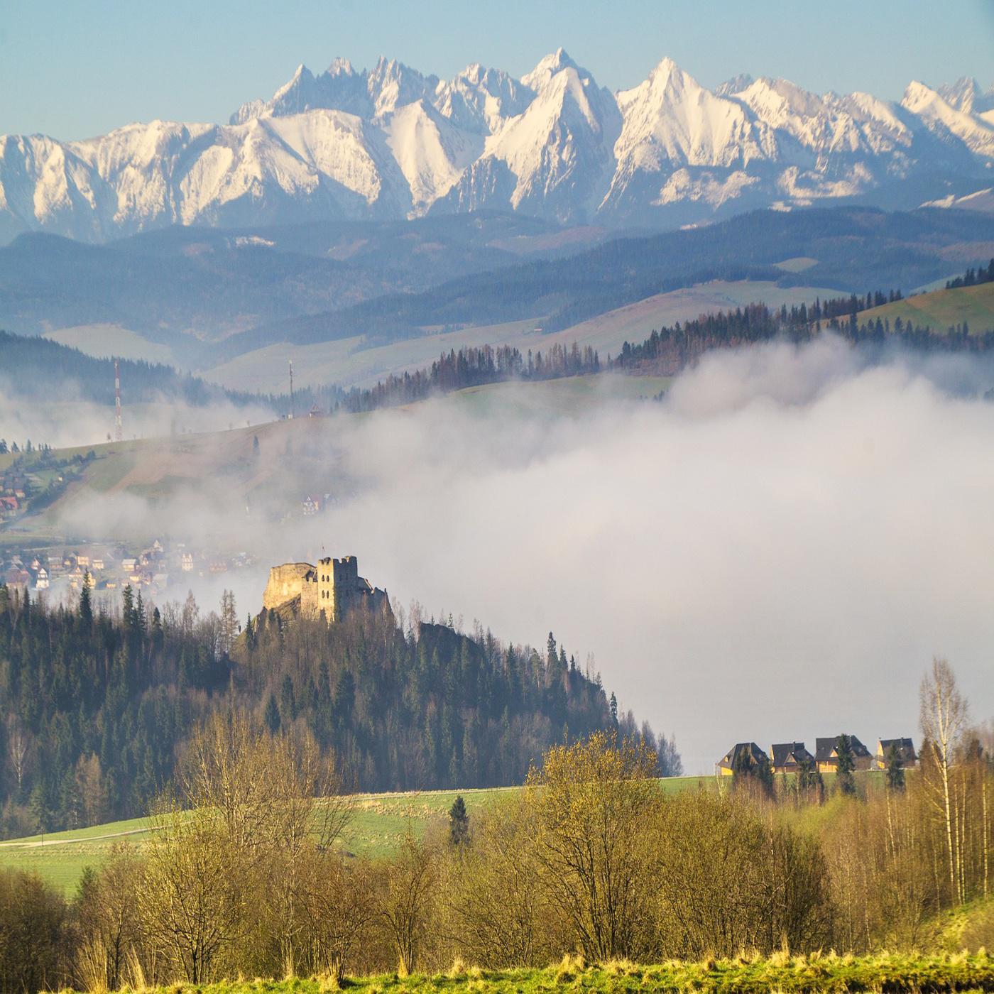
POLYGON ((369 343, 425 327, 486 325, 543 315, 546 332, 655 293, 713 279, 911 288, 950 270, 945 248, 984 257, 990 221, 947 211, 886 214, 867 208, 756 211, 722 224, 607 242, 565 259, 528 261, 452 279, 420 293, 259 325, 212 350, 223 362, 271 342, 313 343, 359 332, 369 343), (971 247, 971 243, 976 248, 971 247), (804 259, 791 272, 790 260, 804 259))

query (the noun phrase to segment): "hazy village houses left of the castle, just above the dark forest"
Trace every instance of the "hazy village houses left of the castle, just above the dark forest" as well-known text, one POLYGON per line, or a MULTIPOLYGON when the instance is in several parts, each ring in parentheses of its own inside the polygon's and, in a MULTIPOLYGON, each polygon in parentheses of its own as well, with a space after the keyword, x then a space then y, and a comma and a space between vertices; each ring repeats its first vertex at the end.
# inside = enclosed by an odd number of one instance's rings
POLYGON ((164 592, 172 583, 192 576, 227 573, 251 566, 248 553, 223 555, 213 550, 171 545, 156 539, 148 548, 131 554, 121 546, 82 546, 73 550, 47 550, 12 555, 0 560, 0 582, 11 589, 79 590, 83 583, 93 590, 122 589, 130 584, 151 593, 164 592))

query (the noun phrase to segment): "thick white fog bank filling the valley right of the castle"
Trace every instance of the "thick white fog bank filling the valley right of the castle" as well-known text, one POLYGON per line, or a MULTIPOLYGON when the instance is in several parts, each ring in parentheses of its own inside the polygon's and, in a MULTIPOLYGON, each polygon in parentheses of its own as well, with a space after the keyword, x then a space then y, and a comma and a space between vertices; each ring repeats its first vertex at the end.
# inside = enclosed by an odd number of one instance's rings
MULTIPOLYGON (((395 602, 505 639, 553 629, 676 734, 690 772, 744 740, 916 739, 933 654, 994 713, 988 379, 825 340, 715 353, 662 404, 329 419, 348 490, 321 517, 240 526, 243 544, 262 562, 356 554, 395 602)), ((196 500, 158 520, 231 527, 196 500)))

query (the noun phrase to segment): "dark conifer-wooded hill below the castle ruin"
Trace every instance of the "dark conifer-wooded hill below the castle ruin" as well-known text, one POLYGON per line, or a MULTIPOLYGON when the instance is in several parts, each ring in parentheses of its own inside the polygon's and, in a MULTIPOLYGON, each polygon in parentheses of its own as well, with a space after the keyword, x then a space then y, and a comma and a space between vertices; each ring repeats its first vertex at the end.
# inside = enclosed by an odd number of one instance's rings
POLYGON ((520 783, 567 736, 619 728, 599 676, 550 636, 546 651, 413 619, 356 612, 341 624, 263 612, 239 635, 234 598, 120 614, 45 607, 0 586, 0 831, 18 837, 147 810, 191 731, 237 704, 279 731, 307 729, 364 790, 520 783))

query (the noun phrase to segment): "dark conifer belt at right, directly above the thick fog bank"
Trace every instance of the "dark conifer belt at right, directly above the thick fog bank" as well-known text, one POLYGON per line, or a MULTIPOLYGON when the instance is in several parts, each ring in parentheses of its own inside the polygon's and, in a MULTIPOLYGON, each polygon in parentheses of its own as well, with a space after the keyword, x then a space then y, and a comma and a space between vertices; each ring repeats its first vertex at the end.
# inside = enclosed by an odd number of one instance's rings
MULTIPOLYGON (((867 300, 876 295, 868 294, 867 300)), ((670 376, 696 362, 712 349, 785 338, 792 342, 809 342, 823 331, 833 331, 854 345, 900 344, 920 351, 987 352, 994 348, 994 331, 970 332, 967 323, 936 332, 927 326, 896 317, 860 320, 865 301, 860 297, 842 297, 828 306, 784 305, 778 310, 765 304, 747 304, 734 311, 708 314, 693 321, 653 331, 644 342, 625 342, 608 368, 625 373, 670 376), (813 314, 818 316, 812 317, 813 314), (827 315, 827 316, 826 316, 827 315), (846 315, 842 320, 839 315, 846 315)), ((876 306, 876 304, 874 304, 876 306)))

